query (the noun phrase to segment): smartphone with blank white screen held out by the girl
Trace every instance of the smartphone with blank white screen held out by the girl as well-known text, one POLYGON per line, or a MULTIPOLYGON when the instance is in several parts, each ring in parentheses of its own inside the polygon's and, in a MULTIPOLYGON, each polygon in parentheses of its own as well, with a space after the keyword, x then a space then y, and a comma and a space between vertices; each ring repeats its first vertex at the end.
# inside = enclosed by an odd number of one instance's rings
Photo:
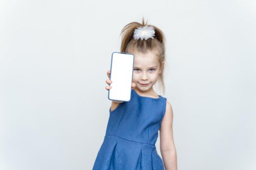
POLYGON ((111 89, 108 99, 129 102, 133 81, 134 55, 124 52, 113 52, 111 57, 110 80, 111 89))

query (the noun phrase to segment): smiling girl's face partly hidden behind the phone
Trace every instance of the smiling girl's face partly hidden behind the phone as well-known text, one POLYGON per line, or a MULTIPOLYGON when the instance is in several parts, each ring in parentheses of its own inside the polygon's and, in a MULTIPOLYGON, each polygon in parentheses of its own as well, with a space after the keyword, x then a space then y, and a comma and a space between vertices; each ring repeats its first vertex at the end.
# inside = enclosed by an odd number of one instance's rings
POLYGON ((135 56, 133 82, 136 84, 136 88, 141 91, 151 90, 158 80, 158 75, 161 73, 156 51, 147 53, 130 51, 130 53, 135 56))

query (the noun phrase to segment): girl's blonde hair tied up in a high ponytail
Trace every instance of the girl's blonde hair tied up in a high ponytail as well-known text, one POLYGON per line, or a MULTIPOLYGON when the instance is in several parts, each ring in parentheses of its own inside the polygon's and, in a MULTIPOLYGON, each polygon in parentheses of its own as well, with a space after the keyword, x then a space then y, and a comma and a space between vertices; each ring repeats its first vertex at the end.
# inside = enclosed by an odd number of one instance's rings
MULTIPOLYGON (((121 52, 126 52, 130 50, 137 50, 141 53, 146 53, 148 51, 157 50, 158 51, 158 61, 160 64, 160 69, 162 70, 161 73, 158 76, 158 80, 160 82, 160 87, 163 91, 163 94, 165 93, 165 85, 164 85, 164 64, 161 63, 165 61, 165 37, 163 32, 158 29, 157 27, 153 25, 147 25, 147 22, 144 22, 144 18, 142 17, 142 24, 138 22, 131 22, 124 26, 124 28, 121 31, 122 34, 122 40, 121 40, 121 52), (155 29, 155 36, 154 38, 149 38, 147 40, 135 40, 133 38, 134 30, 137 27, 141 26, 152 26, 155 29)), ((165 63, 165 62, 164 62, 165 63)), ((158 81, 157 81, 158 82, 158 81)))

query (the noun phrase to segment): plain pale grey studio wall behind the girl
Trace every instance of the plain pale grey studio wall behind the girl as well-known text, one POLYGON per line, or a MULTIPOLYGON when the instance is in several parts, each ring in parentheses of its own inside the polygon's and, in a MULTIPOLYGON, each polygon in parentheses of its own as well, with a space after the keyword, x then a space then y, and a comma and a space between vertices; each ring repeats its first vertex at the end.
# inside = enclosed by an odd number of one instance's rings
POLYGON ((256 169, 254 0, 1 0, 0 170, 92 169, 111 53, 142 17, 167 40, 178 169, 256 169))

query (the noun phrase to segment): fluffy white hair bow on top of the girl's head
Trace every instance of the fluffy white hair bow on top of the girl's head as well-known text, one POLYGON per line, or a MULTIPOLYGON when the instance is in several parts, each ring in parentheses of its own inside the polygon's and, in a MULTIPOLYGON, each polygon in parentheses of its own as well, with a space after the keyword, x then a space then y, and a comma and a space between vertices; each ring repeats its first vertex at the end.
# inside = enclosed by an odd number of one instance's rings
POLYGON ((154 38, 154 36, 155 36, 155 29, 152 26, 137 27, 137 29, 135 29, 133 34, 134 39, 140 38, 141 40, 154 38))

